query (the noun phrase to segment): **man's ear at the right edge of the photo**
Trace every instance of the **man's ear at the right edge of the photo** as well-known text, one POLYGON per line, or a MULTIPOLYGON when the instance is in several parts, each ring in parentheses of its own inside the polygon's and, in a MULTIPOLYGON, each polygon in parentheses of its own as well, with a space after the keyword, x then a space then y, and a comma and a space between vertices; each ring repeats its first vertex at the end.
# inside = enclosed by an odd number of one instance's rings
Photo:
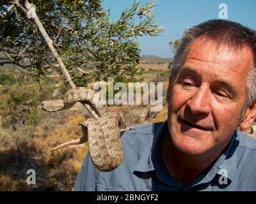
POLYGON ((250 128, 255 120, 256 117, 256 103, 253 103, 249 108, 247 108, 246 112, 244 113, 244 117, 241 120, 239 127, 241 129, 250 128))

